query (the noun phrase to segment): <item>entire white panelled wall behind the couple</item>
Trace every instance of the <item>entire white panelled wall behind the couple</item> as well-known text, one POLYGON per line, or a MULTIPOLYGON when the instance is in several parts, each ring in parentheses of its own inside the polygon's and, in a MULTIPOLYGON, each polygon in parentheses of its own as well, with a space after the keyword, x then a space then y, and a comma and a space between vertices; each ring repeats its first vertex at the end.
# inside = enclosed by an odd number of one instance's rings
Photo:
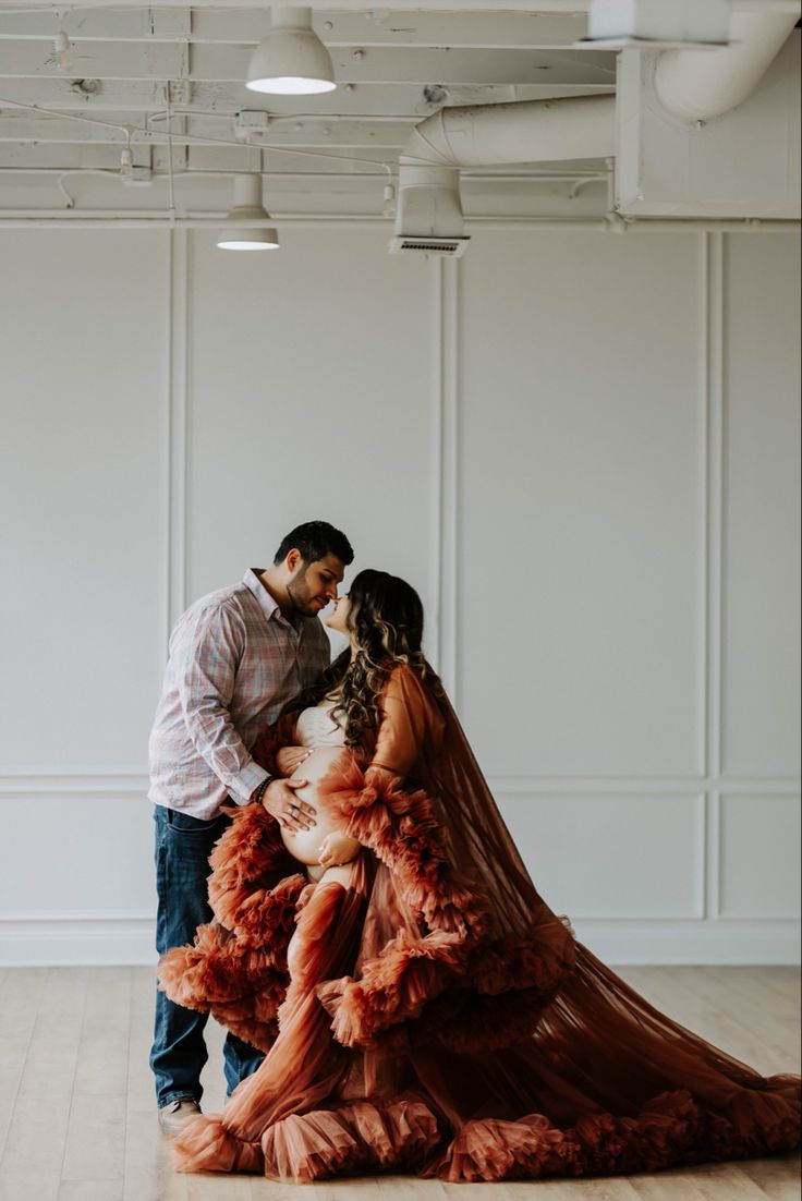
POLYGON ((798 937, 797 241, 0 231, 0 955, 149 962, 172 620, 325 516, 408 576, 612 962, 798 937))

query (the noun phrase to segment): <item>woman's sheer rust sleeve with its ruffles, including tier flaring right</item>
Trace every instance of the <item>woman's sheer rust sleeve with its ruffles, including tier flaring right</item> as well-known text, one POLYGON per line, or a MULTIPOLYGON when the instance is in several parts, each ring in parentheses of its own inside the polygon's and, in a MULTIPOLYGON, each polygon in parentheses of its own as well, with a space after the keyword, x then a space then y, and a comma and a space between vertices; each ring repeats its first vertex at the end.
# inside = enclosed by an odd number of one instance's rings
POLYGON ((573 960, 573 937, 534 890, 520 932, 499 925, 492 879, 457 850, 462 801, 436 771, 445 730, 429 687, 396 668, 366 766, 335 766, 318 785, 418 919, 417 933, 399 930, 353 976, 318 986, 346 1046, 509 1045, 531 1030, 573 960))

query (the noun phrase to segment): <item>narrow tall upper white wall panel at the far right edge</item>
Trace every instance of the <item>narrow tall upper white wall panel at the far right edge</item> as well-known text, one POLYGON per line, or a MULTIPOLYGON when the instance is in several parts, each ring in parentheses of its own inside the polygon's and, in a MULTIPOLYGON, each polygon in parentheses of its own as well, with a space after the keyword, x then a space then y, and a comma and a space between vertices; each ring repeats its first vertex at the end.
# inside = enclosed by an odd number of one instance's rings
POLYGON ((724 770, 798 776, 798 238, 728 238, 725 277, 724 770))

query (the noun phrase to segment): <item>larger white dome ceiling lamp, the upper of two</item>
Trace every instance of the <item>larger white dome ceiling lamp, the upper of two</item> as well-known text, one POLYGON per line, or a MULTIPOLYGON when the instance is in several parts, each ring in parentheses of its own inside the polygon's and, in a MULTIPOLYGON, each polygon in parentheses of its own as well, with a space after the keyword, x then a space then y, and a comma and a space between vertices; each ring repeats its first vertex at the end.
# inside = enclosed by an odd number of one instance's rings
POLYGON ((312 10, 274 5, 273 28, 251 56, 245 86, 279 96, 334 91, 334 66, 312 29, 312 10))

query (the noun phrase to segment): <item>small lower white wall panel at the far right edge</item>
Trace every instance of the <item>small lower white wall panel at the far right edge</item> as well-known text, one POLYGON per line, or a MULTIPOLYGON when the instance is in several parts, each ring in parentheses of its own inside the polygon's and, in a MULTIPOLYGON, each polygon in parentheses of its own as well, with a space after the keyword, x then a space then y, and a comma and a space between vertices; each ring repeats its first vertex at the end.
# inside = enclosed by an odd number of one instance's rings
POLYGON ((800 916, 800 797, 722 796, 722 918, 800 916))

